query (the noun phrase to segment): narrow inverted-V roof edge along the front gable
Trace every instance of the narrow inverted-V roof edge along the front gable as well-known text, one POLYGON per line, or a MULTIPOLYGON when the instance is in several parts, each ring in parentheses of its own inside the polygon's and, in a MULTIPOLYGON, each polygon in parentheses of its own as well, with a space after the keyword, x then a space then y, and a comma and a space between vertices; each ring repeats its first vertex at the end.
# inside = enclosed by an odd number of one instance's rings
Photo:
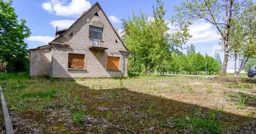
MULTIPOLYGON (((119 40, 121 40, 121 43, 123 44, 123 41, 121 39, 121 37, 119 36, 119 34, 117 33, 117 30, 115 30, 115 27, 113 27, 112 23, 110 22, 110 20, 108 19, 108 16, 106 15, 106 13, 103 11, 102 7, 100 6, 100 4, 98 3, 98 1, 96 3, 94 3, 94 5, 92 5, 92 7, 90 7, 90 9, 88 9, 87 11, 84 11, 84 13, 68 28, 65 29, 65 31, 58 37, 61 38, 61 36, 63 36, 64 34, 66 34, 67 31, 69 31, 69 29, 71 29, 71 27, 73 27, 73 25, 75 25, 75 23, 77 23, 79 21, 79 19, 82 19, 82 17, 84 17, 84 15, 86 15, 88 13, 88 11, 90 11, 93 7, 95 7, 96 5, 98 5, 98 7, 100 7, 100 10, 102 11, 102 13, 105 15, 106 19, 108 20, 108 23, 110 23, 111 27, 113 28, 113 30, 115 31, 115 34, 117 34, 117 37, 119 38, 119 40)), ((55 38, 55 40, 57 40, 58 38, 55 38)), ((55 40, 53 40, 52 42, 55 42, 55 40)), ((49 43, 51 44, 51 42, 49 43)), ((125 49, 127 51, 128 48, 126 48, 125 44, 123 44, 123 46, 125 47, 125 49)))

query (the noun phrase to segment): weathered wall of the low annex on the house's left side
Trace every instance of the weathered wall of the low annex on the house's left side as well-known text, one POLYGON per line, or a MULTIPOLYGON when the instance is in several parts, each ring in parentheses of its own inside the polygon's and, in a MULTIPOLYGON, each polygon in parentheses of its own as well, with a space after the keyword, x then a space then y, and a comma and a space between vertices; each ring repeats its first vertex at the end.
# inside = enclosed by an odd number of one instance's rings
POLYGON ((51 50, 49 48, 30 50, 30 76, 51 76, 51 50))

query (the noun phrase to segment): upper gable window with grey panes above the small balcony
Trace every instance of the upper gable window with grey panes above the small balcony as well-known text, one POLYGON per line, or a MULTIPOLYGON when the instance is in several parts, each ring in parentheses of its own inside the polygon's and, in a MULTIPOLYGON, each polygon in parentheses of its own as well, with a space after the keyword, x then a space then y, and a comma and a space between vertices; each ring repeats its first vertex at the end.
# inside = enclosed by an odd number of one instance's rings
POLYGON ((89 26, 89 38, 96 40, 103 40, 103 28, 89 26))

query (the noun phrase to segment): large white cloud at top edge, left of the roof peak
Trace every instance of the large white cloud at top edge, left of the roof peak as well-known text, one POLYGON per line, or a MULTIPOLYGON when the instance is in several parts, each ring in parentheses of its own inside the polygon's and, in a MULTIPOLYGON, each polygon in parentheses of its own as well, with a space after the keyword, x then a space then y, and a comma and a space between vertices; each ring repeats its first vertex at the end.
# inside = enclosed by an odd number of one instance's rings
POLYGON ((59 16, 77 17, 90 7, 91 3, 87 0, 72 0, 70 3, 67 0, 51 0, 42 3, 44 10, 59 16))

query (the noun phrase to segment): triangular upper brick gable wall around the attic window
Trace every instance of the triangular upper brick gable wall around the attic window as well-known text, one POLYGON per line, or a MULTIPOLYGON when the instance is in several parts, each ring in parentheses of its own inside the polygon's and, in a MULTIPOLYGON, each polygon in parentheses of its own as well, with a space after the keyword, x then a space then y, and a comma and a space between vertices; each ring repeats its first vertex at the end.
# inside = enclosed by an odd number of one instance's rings
POLYGON ((100 46, 108 48, 106 52, 127 51, 98 4, 75 22, 57 42, 69 44, 71 49, 89 50, 88 48, 92 46, 92 40, 89 39, 89 25, 103 28, 103 41, 100 41, 100 46), (98 16, 94 15, 96 12, 98 16), (69 36, 71 32, 73 36, 69 36))

